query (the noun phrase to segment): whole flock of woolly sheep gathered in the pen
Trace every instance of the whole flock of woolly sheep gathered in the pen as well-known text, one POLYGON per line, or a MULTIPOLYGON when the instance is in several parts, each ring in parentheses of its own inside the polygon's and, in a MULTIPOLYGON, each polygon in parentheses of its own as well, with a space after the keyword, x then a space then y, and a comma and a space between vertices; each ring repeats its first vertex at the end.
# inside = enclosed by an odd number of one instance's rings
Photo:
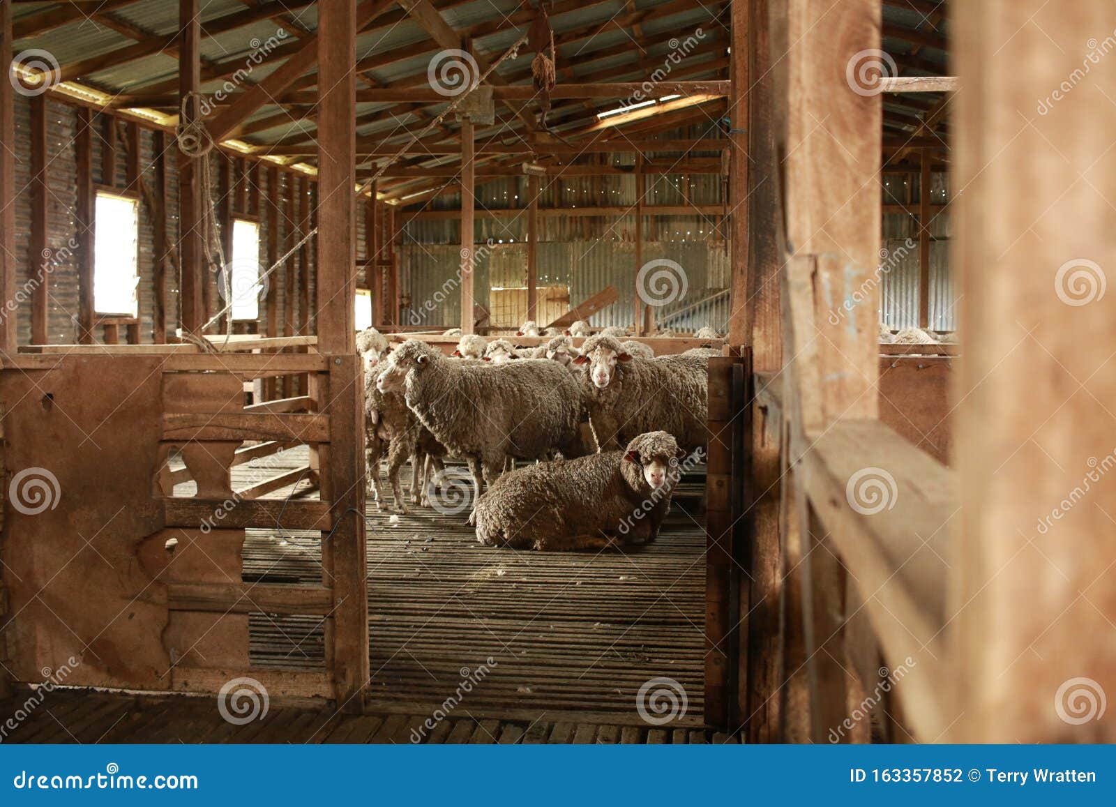
MULTIPOLYGON (((464 335, 445 356, 419 339, 389 350, 374 328, 357 336, 377 507, 381 460, 406 513, 403 464, 411 460, 410 503, 437 507, 431 497, 449 487, 444 461, 455 458, 472 477, 455 493, 472 502, 469 523, 483 545, 578 550, 653 540, 680 460, 706 446, 708 361, 719 350, 654 356, 620 328, 593 334, 584 321, 564 334, 525 323, 519 335, 550 339, 519 348, 464 335), (587 337, 579 350, 575 336, 587 337), (516 460, 530 464, 516 470, 516 460)), ((716 338, 705 328, 696 336, 716 338)))

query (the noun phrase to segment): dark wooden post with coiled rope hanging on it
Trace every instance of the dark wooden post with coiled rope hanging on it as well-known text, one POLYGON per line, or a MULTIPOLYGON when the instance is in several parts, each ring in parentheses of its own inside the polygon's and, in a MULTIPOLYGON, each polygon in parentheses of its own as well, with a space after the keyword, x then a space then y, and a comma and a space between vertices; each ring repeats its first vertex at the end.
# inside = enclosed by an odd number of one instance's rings
MULTIPOLYGON (((198 0, 179 1, 179 95, 184 98, 201 86, 201 13, 198 0)), ((198 115, 195 105, 186 118, 198 115)), ((205 321, 204 291, 208 288, 205 244, 201 229, 202 199, 194 161, 179 152, 179 319, 183 330, 196 332, 205 321)))

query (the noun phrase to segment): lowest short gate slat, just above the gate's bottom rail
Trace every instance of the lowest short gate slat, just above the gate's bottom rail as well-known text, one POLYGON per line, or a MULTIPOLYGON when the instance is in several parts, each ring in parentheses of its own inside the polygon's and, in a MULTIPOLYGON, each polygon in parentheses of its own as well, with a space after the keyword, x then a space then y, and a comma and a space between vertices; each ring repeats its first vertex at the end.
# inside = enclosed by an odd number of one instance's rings
POLYGON ((175 583, 166 587, 166 607, 221 614, 325 616, 333 608, 333 592, 318 585, 175 583))

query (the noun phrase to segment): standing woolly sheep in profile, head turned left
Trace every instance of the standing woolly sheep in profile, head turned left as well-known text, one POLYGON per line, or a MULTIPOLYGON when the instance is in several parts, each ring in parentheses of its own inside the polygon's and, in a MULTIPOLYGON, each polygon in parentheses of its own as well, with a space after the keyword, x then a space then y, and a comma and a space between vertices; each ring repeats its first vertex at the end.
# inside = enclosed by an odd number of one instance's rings
POLYGON ((420 422, 450 453, 469 461, 478 497, 485 481, 500 475, 507 457, 549 459, 556 449, 562 457, 584 453, 580 388, 555 362, 504 367, 454 362, 408 339, 392 353, 377 386, 405 391, 420 422))

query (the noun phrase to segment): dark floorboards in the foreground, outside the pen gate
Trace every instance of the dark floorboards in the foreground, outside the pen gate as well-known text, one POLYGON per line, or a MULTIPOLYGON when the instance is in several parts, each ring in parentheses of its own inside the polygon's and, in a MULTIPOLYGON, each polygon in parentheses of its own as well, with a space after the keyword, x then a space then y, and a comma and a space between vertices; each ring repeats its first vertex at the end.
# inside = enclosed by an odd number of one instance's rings
MULTIPOLYGON (((30 696, 23 693, 23 698, 30 696)), ((20 717, 3 742, 38 743, 733 743, 704 729, 568 721, 508 721, 468 714, 435 724, 429 715, 338 714, 334 710, 269 709, 244 724, 224 720, 211 698, 126 698, 56 691, 25 715, 21 701, 0 701, 0 723, 20 717)))

